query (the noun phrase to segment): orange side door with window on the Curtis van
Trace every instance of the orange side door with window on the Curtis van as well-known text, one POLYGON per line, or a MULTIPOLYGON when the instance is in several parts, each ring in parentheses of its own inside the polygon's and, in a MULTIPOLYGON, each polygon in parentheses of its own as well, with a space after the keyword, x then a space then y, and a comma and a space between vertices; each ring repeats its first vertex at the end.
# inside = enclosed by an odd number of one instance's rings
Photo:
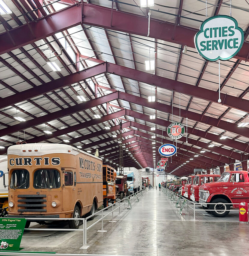
POLYGON ((74 186, 74 174, 72 171, 63 172, 62 209, 63 211, 74 210, 76 190, 74 186))

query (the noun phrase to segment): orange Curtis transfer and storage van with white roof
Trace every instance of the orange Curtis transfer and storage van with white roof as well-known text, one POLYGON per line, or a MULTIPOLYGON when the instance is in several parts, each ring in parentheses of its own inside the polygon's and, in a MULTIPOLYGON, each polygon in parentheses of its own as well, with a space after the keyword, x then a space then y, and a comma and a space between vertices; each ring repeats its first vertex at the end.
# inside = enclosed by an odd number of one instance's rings
MULTIPOLYGON (((6 217, 30 217, 35 221, 41 217, 80 218, 94 214, 103 204, 102 164, 101 158, 70 145, 10 146, 6 217)), ((78 228, 79 223, 69 220, 69 227, 78 228)))

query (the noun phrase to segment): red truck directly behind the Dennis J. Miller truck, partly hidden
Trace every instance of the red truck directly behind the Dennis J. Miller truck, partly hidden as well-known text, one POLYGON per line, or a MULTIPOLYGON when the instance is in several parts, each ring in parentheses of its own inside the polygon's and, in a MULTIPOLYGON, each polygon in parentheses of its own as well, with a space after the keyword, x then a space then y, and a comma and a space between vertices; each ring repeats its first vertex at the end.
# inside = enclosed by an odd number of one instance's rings
POLYGON ((216 182, 220 178, 219 174, 197 174, 195 175, 193 185, 191 187, 190 199, 192 201, 199 201, 199 187, 202 184, 216 182))

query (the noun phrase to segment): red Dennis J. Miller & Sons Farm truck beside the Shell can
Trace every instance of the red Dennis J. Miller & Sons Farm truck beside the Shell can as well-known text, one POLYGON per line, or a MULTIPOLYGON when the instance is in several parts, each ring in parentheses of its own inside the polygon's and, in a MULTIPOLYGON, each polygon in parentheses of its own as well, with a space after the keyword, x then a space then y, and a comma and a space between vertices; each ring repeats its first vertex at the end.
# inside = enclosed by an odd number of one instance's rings
POLYGON ((200 199, 204 209, 215 217, 225 217, 230 207, 238 208, 243 201, 249 203, 249 177, 247 171, 228 171, 221 174, 217 182, 203 184, 199 188, 200 199), (215 203, 215 204, 207 204, 215 203), (227 204, 231 203, 231 204, 227 204))

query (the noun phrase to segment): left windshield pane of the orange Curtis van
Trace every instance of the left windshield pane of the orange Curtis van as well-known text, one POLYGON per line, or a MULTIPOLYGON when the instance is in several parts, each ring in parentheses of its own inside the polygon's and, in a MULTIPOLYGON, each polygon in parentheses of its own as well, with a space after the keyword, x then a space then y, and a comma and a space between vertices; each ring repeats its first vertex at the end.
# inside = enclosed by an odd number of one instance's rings
POLYGON ((11 174, 11 189, 27 189, 29 187, 29 172, 27 170, 14 170, 11 174))

